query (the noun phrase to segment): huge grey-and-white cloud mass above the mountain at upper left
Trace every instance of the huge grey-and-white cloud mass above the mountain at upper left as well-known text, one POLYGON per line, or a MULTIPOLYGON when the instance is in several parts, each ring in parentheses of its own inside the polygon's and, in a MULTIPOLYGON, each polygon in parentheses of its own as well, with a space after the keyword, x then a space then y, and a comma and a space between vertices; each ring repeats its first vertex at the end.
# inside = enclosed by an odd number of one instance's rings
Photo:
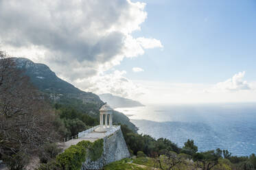
POLYGON ((45 63, 75 86, 93 90, 95 82, 77 82, 107 79, 104 71, 124 58, 163 47, 160 40, 132 36, 147 18, 145 6, 130 0, 1 0, 0 47, 12 56, 45 63))

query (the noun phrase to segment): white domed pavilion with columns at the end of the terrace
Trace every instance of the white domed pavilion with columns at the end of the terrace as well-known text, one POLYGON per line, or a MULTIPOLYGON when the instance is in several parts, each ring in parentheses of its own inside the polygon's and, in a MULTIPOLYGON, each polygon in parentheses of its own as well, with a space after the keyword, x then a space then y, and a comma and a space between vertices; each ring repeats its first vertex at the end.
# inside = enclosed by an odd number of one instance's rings
POLYGON ((108 132, 113 128, 113 109, 107 104, 100 108, 100 127, 95 132, 108 132))

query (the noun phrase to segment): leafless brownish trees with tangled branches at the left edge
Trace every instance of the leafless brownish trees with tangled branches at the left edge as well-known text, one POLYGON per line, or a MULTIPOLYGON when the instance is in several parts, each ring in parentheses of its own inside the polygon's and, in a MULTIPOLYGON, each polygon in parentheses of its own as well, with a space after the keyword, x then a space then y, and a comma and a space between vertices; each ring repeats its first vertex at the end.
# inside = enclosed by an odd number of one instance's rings
POLYGON ((55 116, 12 58, 0 51, 0 154, 25 165, 41 145, 55 140, 55 116), (15 160, 17 161, 17 160, 15 160))

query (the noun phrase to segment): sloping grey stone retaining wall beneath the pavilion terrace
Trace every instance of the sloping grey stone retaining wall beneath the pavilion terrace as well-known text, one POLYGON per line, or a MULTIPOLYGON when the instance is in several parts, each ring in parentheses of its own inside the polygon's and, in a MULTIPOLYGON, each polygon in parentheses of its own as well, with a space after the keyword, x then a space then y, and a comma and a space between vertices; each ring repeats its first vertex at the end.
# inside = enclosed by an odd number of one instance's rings
POLYGON ((104 137, 104 151, 102 156, 96 161, 87 159, 86 162, 82 164, 82 170, 102 169, 104 165, 107 165, 110 162, 115 162, 128 157, 130 157, 130 153, 119 127, 113 134, 104 137))

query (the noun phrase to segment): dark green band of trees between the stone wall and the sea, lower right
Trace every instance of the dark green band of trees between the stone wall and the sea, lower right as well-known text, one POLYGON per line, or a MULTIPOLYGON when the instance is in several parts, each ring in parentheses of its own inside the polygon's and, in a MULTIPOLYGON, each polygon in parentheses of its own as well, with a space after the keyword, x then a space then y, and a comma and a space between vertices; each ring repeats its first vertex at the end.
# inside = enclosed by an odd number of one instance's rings
POLYGON ((231 156, 229 151, 221 149, 198 152, 198 147, 190 139, 180 148, 166 138, 156 140, 149 135, 134 133, 126 125, 121 125, 121 131, 130 152, 138 157, 143 157, 146 154, 146 156, 154 158, 154 167, 159 169, 176 169, 177 167, 202 170, 256 169, 255 154, 249 157, 231 156), (191 164, 187 160, 193 160, 194 163, 191 164))

